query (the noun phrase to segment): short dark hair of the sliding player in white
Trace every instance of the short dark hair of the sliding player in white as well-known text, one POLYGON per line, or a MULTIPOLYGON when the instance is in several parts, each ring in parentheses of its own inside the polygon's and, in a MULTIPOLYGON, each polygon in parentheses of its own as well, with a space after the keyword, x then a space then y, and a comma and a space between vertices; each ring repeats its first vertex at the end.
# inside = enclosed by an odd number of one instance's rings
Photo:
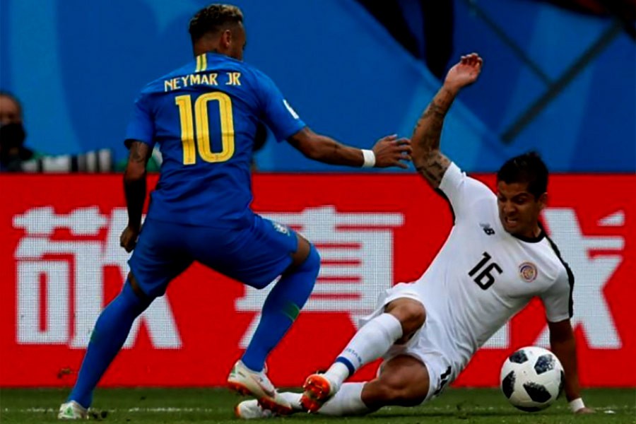
POLYGON ((538 199, 548 191, 548 167, 536 152, 524 153, 507 160, 497 172, 497 182, 525 182, 528 192, 538 199))

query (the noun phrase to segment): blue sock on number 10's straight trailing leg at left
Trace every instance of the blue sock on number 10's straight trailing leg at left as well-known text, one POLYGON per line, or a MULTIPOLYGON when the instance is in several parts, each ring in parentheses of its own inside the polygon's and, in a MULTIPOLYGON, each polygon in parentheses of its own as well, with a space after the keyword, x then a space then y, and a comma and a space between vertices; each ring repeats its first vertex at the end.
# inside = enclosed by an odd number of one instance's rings
POLYGON ((122 292, 102 310, 80 368, 77 382, 66 401, 76 401, 88 408, 93 401, 93 389, 107 370, 126 337, 136 317, 150 305, 141 300, 126 279, 122 292))

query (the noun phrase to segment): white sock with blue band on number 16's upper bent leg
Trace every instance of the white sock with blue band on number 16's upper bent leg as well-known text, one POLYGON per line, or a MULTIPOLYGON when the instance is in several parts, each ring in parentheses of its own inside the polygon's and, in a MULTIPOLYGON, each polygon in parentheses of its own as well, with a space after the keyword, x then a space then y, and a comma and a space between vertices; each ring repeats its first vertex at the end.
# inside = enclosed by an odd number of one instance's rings
POLYGON ((387 353, 401 336, 399 319, 387 313, 375 317, 355 333, 325 376, 340 387, 358 368, 387 353))

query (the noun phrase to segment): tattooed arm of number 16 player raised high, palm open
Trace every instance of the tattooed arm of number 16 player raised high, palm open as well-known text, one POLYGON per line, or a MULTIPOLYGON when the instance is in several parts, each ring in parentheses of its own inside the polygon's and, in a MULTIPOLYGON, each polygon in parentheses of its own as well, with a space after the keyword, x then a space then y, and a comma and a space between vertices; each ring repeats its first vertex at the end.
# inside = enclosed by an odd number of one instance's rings
POLYGON ((476 53, 462 56, 461 61, 448 71, 444 85, 426 107, 413 129, 413 165, 434 189, 440 187, 444 172, 450 165, 450 160, 440 151, 444 117, 459 90, 477 80, 482 64, 481 57, 476 53))

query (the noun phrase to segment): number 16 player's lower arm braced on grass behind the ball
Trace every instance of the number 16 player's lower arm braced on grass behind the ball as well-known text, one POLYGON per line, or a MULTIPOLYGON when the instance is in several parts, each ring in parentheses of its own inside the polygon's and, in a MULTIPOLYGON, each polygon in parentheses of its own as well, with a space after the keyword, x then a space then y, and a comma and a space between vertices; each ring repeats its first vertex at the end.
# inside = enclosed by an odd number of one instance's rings
POLYGON ((570 319, 560 322, 548 322, 550 329, 550 348, 559 358, 565 372, 565 397, 575 413, 594 412, 586 408, 581 399, 579 372, 577 368, 577 346, 570 319))

